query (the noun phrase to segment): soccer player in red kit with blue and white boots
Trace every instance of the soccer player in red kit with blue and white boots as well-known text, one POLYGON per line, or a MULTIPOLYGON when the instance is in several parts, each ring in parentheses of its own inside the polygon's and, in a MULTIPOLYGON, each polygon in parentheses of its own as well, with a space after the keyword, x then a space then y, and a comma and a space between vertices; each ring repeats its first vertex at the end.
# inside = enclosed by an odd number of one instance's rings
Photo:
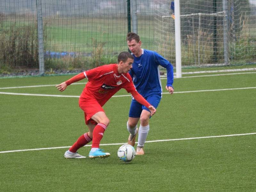
POLYGON ((88 79, 88 83, 79 98, 79 107, 84 111, 85 124, 89 131, 81 135, 72 147, 65 152, 65 158, 85 158, 85 156, 79 155, 77 150, 90 141, 92 141, 92 148, 89 152, 90 158, 110 156, 109 153, 103 152, 99 148, 100 140, 110 122, 102 106, 121 88, 130 92, 135 100, 146 106, 151 115, 156 113, 156 109, 136 91, 132 78, 128 74, 132 68, 132 54, 121 52, 117 60, 118 64, 103 65, 84 71, 56 85, 57 89, 62 92, 68 85, 84 78, 88 79))

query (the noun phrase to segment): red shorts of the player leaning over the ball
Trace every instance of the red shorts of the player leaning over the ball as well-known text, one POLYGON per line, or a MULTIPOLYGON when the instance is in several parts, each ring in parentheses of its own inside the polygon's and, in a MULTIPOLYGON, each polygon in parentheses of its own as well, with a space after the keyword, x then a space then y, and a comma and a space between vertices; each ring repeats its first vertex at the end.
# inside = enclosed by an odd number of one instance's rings
POLYGON ((104 112, 104 109, 100 106, 99 102, 92 97, 84 98, 80 97, 79 98, 79 107, 84 111, 84 120, 85 124, 97 124, 94 120, 92 120, 92 116, 95 113, 98 113, 100 111, 104 112))

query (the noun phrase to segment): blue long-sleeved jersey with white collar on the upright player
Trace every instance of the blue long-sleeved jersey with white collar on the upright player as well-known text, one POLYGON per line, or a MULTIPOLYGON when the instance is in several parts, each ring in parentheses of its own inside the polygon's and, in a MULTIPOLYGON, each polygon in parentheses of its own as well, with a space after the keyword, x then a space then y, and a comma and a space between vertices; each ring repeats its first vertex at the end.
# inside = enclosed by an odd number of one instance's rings
POLYGON ((167 69, 167 86, 173 84, 173 67, 172 64, 164 59, 157 52, 142 49, 140 57, 134 57, 132 69, 129 71, 136 90, 144 97, 149 95, 162 95, 162 85, 160 80, 159 68, 167 69))

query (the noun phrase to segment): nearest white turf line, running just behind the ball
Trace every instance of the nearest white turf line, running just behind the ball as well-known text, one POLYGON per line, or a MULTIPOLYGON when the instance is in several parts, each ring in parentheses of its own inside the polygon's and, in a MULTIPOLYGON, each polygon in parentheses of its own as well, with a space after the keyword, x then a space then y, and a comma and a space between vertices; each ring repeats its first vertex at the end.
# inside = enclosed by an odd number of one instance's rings
MULTIPOLYGON (((218 135, 218 136, 206 136, 206 137, 191 137, 191 138, 182 138, 182 139, 165 139, 165 140, 153 140, 146 141, 146 143, 153 142, 164 142, 164 141, 178 141, 178 140, 193 140, 193 139, 207 139, 207 138, 216 138, 216 137, 233 137, 233 136, 243 136, 243 135, 254 135, 256 133, 243 133, 243 134, 232 134, 232 135, 218 135)), ((138 142, 136 142, 138 143, 138 142)), ((124 145, 127 143, 109 143, 109 144, 100 144, 100 146, 106 145, 124 145)), ((92 145, 85 145, 84 147, 90 147, 92 145)), ((50 147, 50 148, 37 148, 37 149, 21 149, 21 150, 12 150, 12 151, 0 151, 0 153, 12 153, 12 152, 20 152, 20 151, 36 151, 36 150, 47 150, 47 149, 60 149, 60 148, 70 148, 71 146, 66 147, 50 147)))

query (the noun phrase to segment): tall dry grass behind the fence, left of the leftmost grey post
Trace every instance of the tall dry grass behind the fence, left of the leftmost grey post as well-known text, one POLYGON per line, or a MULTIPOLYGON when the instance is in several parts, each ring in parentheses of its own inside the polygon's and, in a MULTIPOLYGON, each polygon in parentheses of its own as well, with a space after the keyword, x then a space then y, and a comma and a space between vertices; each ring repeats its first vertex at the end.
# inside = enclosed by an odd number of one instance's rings
POLYGON ((0 67, 38 68, 38 41, 35 25, 14 24, 0 33, 0 67))

